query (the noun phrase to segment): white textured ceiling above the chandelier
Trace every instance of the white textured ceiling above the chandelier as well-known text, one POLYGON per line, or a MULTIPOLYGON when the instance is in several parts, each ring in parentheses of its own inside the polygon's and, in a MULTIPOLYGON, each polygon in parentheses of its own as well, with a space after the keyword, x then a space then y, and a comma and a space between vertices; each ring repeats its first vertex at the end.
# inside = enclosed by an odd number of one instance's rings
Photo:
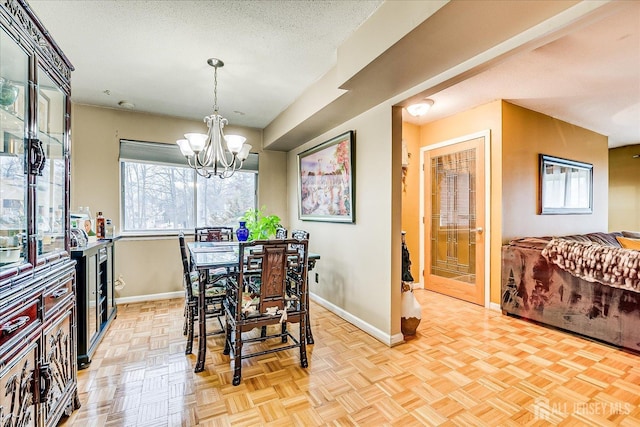
POLYGON ((201 119, 218 105, 263 128, 335 65, 337 47, 382 3, 64 1, 29 4, 75 67, 72 101, 201 119), (107 92, 108 91, 108 92, 107 92))

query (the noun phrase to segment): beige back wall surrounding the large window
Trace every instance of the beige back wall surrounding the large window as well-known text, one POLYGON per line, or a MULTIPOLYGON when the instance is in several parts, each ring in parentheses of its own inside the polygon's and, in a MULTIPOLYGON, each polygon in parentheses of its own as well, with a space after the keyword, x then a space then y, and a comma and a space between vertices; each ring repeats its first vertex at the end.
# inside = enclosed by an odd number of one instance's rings
MULTIPOLYGON (((201 121, 185 120, 87 105, 72 105, 71 207, 89 206, 92 214, 102 211, 120 228, 119 141, 132 139, 175 143, 185 132, 206 131, 201 121)), ((287 220, 285 153, 262 151, 258 129, 229 127, 242 134, 260 153, 258 204, 287 220)), ((126 287, 118 297, 156 295, 182 290, 182 266, 174 236, 126 237, 116 243, 116 277, 126 287)))

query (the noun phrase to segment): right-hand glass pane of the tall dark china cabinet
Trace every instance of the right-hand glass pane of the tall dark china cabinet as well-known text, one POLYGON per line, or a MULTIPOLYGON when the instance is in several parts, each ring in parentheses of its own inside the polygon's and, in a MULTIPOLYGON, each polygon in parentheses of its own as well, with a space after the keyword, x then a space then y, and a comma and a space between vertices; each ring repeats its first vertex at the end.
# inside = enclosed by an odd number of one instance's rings
POLYGON ((36 234, 38 256, 64 250, 65 223, 65 94, 38 68, 38 139, 44 167, 36 178, 36 234))

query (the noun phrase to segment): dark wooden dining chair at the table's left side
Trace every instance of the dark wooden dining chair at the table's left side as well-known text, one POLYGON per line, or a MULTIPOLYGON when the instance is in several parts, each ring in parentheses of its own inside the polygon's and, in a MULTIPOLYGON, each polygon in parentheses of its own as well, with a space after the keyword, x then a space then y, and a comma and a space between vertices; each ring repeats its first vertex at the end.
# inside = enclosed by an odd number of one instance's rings
MULTIPOLYGON (((185 305, 184 305, 184 327, 183 334, 187 336, 187 345, 185 354, 191 354, 193 350, 194 323, 199 321, 198 318, 198 292, 200 289, 200 274, 198 271, 191 269, 189 262, 188 250, 184 239, 184 233, 178 235, 180 243, 180 256, 182 258, 183 284, 185 289, 185 305)), ((225 283, 226 275, 220 274, 218 277, 209 278, 205 284, 205 312, 206 319, 215 318, 220 329, 211 332, 208 335, 221 334, 224 332, 224 323, 222 316, 224 311, 222 308, 222 300, 226 291, 225 283)))

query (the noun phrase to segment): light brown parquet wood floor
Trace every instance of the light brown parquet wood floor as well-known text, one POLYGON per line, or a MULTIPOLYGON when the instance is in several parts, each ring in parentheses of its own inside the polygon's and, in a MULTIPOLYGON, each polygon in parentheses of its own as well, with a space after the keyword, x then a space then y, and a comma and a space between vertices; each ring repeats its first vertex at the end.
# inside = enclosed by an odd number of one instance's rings
MULTIPOLYGON (((640 426, 640 356, 424 290, 415 339, 388 348, 312 303, 295 350, 244 361, 222 336, 185 356, 182 300, 122 305, 65 426, 640 426)), ((195 347, 197 348, 197 346, 195 347)))

